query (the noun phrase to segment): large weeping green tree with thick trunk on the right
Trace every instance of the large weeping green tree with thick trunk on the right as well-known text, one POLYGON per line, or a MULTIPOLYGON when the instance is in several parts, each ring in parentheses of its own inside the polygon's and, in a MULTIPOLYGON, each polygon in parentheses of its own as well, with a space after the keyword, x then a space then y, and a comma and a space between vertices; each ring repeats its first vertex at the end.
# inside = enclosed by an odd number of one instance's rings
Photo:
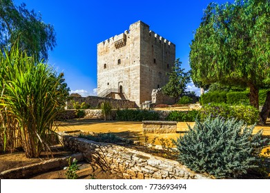
MULTIPOLYGON (((210 3, 195 32, 189 58, 193 81, 248 87, 249 101, 258 108, 259 90, 270 83, 270 1, 210 3)), ((262 123, 270 101, 264 105, 262 123)))

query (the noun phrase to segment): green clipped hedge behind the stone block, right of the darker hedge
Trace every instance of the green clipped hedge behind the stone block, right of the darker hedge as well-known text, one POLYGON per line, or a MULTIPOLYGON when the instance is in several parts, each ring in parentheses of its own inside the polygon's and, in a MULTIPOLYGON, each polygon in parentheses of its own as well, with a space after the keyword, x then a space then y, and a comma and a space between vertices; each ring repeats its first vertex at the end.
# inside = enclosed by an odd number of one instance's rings
POLYGON ((199 119, 199 112, 197 110, 191 111, 172 111, 166 117, 166 121, 186 121, 193 122, 195 119, 199 119))

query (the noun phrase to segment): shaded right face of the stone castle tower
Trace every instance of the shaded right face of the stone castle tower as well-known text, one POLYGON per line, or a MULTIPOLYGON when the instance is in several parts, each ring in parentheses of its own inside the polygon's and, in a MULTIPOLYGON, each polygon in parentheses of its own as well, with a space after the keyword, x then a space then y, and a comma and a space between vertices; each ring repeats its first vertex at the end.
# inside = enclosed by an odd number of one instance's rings
POLYGON ((141 30, 141 83, 140 101, 151 101, 153 89, 162 88, 168 82, 168 75, 175 63, 175 45, 159 34, 149 31, 142 23, 141 30))

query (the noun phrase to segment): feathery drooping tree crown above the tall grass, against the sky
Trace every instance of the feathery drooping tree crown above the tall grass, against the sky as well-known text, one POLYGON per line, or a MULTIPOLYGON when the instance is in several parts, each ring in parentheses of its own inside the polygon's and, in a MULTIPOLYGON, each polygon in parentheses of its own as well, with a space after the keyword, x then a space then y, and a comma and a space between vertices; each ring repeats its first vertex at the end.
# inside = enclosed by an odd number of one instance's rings
POLYGON ((41 20, 41 14, 27 10, 26 4, 15 6, 12 0, 0 0, 0 47, 19 47, 39 61, 48 60, 48 50, 55 48, 55 30, 41 20))

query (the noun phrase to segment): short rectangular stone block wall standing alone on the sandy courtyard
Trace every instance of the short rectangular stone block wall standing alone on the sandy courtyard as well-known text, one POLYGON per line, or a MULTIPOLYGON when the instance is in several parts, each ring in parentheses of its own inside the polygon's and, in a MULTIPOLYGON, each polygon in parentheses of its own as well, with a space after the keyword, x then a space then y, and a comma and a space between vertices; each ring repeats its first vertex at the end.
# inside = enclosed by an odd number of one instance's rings
POLYGON ((176 121, 142 121, 144 133, 176 133, 176 121))

